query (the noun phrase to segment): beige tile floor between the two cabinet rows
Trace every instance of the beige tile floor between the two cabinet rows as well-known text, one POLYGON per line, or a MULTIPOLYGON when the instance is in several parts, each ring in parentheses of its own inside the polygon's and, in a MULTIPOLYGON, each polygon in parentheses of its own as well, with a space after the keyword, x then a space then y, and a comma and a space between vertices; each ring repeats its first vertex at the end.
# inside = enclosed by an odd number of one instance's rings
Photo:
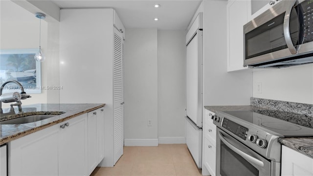
POLYGON ((97 167, 90 176, 201 176, 186 144, 124 147, 114 167, 97 167))

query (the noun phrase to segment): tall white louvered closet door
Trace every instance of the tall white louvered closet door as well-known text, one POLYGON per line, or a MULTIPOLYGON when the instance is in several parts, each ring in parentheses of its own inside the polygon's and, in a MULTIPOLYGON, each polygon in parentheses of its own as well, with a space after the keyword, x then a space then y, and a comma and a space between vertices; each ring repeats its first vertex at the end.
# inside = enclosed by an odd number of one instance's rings
POLYGON ((123 154, 124 146, 124 57, 123 35, 114 28, 113 47, 113 109, 114 109, 114 165, 123 154))

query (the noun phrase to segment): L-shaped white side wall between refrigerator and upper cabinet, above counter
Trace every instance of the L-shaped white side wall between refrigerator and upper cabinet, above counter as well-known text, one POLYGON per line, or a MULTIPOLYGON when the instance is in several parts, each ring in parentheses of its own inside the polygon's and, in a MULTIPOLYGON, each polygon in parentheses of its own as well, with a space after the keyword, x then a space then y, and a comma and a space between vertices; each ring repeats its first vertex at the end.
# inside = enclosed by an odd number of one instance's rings
POLYGON ((250 105, 252 96, 252 72, 227 72, 226 4, 203 1, 204 106, 250 105))

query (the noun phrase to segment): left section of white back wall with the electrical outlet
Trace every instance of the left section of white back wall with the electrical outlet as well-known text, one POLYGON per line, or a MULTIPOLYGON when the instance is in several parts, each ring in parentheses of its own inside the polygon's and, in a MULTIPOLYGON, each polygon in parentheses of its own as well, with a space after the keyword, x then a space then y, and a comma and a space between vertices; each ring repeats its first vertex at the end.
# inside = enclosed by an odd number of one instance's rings
POLYGON ((127 29, 124 58, 125 145, 157 145, 157 30, 127 29))

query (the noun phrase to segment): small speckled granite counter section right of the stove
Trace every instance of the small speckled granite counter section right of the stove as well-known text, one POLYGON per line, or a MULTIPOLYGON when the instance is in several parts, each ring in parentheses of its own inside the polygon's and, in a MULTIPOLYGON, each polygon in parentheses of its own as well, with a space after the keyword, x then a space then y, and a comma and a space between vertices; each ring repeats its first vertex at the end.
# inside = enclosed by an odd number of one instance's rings
POLYGON ((285 146, 313 158, 313 137, 281 138, 278 141, 285 146))

